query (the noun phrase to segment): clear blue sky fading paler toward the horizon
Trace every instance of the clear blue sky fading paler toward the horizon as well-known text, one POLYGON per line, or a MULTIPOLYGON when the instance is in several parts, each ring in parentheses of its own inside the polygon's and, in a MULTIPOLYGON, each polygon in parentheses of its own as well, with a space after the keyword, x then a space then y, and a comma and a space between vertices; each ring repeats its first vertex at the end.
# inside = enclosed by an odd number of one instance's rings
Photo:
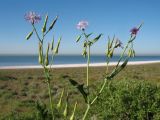
MULTIPOLYGON (((76 35, 80 34, 76 24, 87 20, 87 32, 104 34, 92 47, 93 54, 104 54, 108 35, 115 34, 126 42, 129 30, 143 21, 135 50, 137 54, 160 55, 160 0, 1 0, 0 9, 0 54, 37 53, 36 37, 25 40, 32 28, 24 20, 26 12, 35 11, 42 17, 48 13, 50 22, 59 15, 54 34, 56 39, 63 37, 61 54, 81 53, 82 43, 75 43, 76 35)), ((42 24, 43 21, 36 26, 42 24)), ((47 40, 51 39, 49 34, 47 40)))

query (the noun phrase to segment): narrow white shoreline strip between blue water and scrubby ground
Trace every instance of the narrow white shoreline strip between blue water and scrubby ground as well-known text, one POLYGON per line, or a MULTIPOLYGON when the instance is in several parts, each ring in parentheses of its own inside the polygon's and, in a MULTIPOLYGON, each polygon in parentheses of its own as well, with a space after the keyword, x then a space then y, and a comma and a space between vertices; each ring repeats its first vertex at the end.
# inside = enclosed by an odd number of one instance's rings
MULTIPOLYGON (((130 61, 127 65, 144 65, 144 64, 153 64, 153 63, 160 63, 160 60, 156 61, 130 61)), ((117 62, 110 62, 109 66, 116 65, 117 62)), ((122 64, 122 62, 120 63, 122 64)), ((104 67, 106 66, 106 63, 91 63, 91 67, 104 67)), ((52 68, 78 68, 78 67, 86 67, 86 64, 58 64, 58 65, 52 65, 52 68)), ((0 66, 0 70, 5 69, 41 69, 42 66, 40 65, 27 65, 27 66, 0 66)))

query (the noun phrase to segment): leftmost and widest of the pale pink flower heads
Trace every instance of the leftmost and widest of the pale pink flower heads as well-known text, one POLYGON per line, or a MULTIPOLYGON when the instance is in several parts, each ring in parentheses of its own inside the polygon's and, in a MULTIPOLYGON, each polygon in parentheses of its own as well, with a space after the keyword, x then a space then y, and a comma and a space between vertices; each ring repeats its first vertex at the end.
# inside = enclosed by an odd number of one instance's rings
POLYGON ((24 18, 32 24, 38 23, 41 20, 41 16, 32 11, 26 13, 24 18))

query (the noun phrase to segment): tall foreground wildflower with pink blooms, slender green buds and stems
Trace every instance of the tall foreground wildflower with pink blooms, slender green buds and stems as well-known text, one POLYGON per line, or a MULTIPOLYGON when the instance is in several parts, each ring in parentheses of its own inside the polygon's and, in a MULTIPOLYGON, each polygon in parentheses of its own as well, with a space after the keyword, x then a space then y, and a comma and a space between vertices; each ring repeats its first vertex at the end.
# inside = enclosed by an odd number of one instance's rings
MULTIPOLYGON (((64 94, 64 89, 61 92, 60 95, 60 99, 57 103, 57 106, 53 106, 53 98, 52 98, 52 93, 51 93, 51 79, 52 76, 50 75, 51 72, 51 67, 53 65, 53 58, 55 55, 58 54, 59 52, 59 46, 60 46, 60 42, 61 42, 61 37, 58 40, 58 43, 56 46, 54 46, 54 38, 52 39, 51 43, 48 43, 47 49, 44 50, 44 39, 46 38, 46 35, 53 29, 58 16, 55 17, 55 19, 52 21, 51 25, 47 28, 47 24, 48 24, 48 15, 46 15, 45 20, 44 20, 44 24, 42 26, 41 32, 42 32, 42 37, 40 37, 35 24, 38 23, 41 20, 41 16, 36 14, 35 12, 29 12, 27 14, 25 14, 25 19, 31 23, 32 25, 32 31, 26 36, 26 40, 29 40, 31 38, 31 36, 33 35, 33 33, 36 34, 38 41, 39 41, 39 64, 43 67, 44 70, 44 75, 46 78, 46 83, 48 86, 48 95, 49 95, 49 103, 50 103, 50 111, 47 110, 46 106, 44 104, 40 104, 39 102, 37 102, 36 106, 37 109, 40 111, 40 119, 45 119, 47 118, 46 116, 48 115, 48 112, 51 113, 51 119, 54 120, 56 118, 56 115, 54 114, 55 108, 59 109, 61 107, 62 104, 62 97, 64 94), (52 59, 50 61, 49 59, 49 53, 51 52, 52 55, 52 59)), ((105 72, 105 76, 103 79, 103 83, 102 86, 99 90, 97 90, 97 94, 91 98, 91 94, 93 93, 92 90, 90 90, 90 85, 89 85, 89 69, 90 69, 90 56, 91 56, 91 47, 93 44, 95 44, 101 37, 102 34, 97 35, 94 38, 91 38, 91 36, 93 35, 93 33, 86 33, 86 28, 89 25, 89 23, 87 21, 80 21, 77 24, 77 29, 81 30, 81 34, 78 35, 76 42, 79 42, 82 38, 84 38, 83 40, 83 52, 82 55, 87 58, 87 65, 86 65, 86 84, 79 84, 78 82, 69 79, 70 83, 75 86, 78 91, 81 93, 81 95, 83 96, 84 100, 85 100, 85 104, 86 104, 86 110, 84 112, 83 115, 83 120, 86 119, 89 110, 91 109, 92 105, 97 101, 97 99, 99 98, 99 96, 102 94, 102 91, 104 90, 107 81, 111 81, 116 75, 118 75, 127 65, 128 60, 130 57, 134 57, 135 56, 135 51, 133 48, 133 42, 137 36, 137 33, 139 31, 139 29, 141 28, 142 24, 139 27, 134 27, 133 29, 130 30, 131 34, 130 34, 130 38, 127 42, 127 44, 125 46, 123 46, 123 43, 119 40, 119 38, 116 38, 115 36, 110 39, 110 37, 108 37, 108 43, 107 43, 107 48, 106 48, 106 72, 105 72), (119 57, 119 60, 116 64, 116 66, 114 67, 114 69, 109 72, 109 63, 110 63, 110 59, 113 57, 115 49, 117 48, 121 48, 122 49, 122 53, 119 57), (127 56, 125 55, 127 54, 127 56)), ((68 117, 68 93, 66 96, 66 104, 65 104, 65 108, 63 111, 63 118, 67 119, 68 117)), ((70 120, 75 119, 75 111, 77 109, 77 102, 75 102, 74 105, 74 109, 72 111, 71 116, 69 117, 70 120)), ((50 119, 50 118, 49 118, 50 119)))

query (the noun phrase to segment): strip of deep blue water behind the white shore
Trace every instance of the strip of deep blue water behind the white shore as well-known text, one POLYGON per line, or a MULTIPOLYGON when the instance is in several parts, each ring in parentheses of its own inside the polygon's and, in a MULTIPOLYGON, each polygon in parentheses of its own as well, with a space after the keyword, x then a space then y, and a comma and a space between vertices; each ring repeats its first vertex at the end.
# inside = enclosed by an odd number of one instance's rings
MULTIPOLYGON (((114 56, 111 61, 117 61, 119 56, 114 56)), ((91 56, 91 63, 103 63, 106 58, 103 55, 91 56)), ((136 56, 130 61, 156 61, 160 56, 136 56)), ((61 55, 54 58, 54 64, 80 64, 86 63, 86 59, 80 55, 61 55)), ((36 55, 0 55, 0 66, 31 66, 39 65, 36 55)))

